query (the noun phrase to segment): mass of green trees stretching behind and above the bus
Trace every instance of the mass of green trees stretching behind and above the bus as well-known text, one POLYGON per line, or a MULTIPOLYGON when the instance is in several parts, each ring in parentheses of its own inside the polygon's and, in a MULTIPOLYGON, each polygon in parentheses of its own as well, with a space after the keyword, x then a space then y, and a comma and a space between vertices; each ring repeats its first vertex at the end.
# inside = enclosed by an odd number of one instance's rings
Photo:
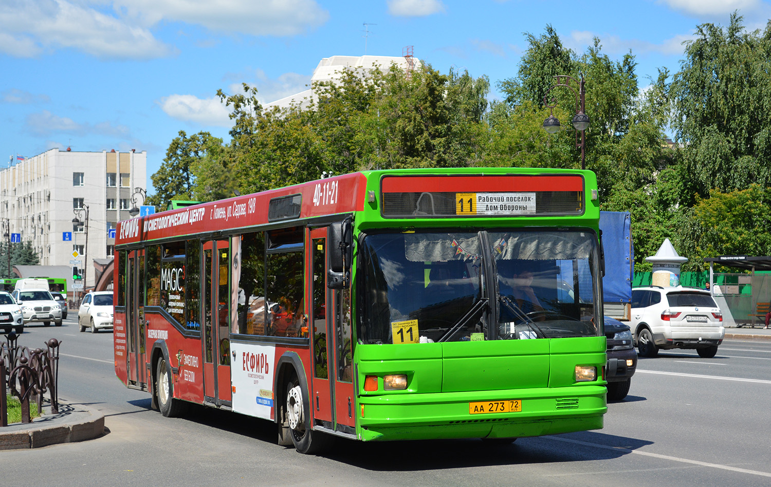
POLYGON ((769 254, 771 23, 746 32, 734 14, 726 29, 696 32, 678 72, 660 69, 643 83, 632 52, 612 59, 594 39, 577 53, 547 25, 525 33, 516 74, 497 82, 504 99, 491 102, 487 76, 429 64, 343 69, 283 109, 264 109, 246 84, 219 90, 231 141, 180 131, 148 200, 217 200, 375 168, 575 169, 571 119, 583 77, 586 167, 597 173, 602 209, 631 212, 638 270, 650 270, 645 257, 665 238, 690 258, 686 270, 709 255, 769 254), (561 75, 569 87, 555 87, 561 75), (542 125, 552 113, 564 129, 549 135, 542 125), (665 139, 669 127, 676 143, 665 139))

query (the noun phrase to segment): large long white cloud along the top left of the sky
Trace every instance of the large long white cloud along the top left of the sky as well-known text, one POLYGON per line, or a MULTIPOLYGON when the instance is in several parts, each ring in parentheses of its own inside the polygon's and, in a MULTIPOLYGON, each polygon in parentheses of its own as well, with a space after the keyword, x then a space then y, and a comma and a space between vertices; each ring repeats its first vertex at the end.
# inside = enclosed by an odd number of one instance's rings
POLYGON ((328 18, 316 0, 2 0, 0 52, 26 58, 71 48, 98 58, 156 59, 177 52, 151 32, 161 22, 298 35, 328 18))

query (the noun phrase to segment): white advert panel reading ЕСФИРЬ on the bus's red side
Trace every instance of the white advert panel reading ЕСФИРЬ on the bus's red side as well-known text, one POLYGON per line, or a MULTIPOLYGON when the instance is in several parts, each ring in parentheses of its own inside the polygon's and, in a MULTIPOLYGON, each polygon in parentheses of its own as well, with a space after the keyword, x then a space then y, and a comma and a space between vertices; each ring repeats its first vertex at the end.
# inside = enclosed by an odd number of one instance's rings
POLYGON ((244 415, 270 419, 274 403, 274 344, 231 342, 231 384, 233 410, 244 415))

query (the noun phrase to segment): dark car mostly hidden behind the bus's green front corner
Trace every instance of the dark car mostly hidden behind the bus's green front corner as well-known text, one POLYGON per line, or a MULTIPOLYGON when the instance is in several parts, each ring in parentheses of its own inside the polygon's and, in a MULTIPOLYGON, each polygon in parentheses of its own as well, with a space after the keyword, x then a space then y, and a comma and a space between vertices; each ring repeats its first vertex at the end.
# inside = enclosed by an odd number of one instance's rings
POLYGON ((631 376, 637 370, 637 351, 629 325, 609 316, 605 317, 605 338, 608 339, 608 364, 605 366, 608 399, 620 401, 629 394, 631 376))

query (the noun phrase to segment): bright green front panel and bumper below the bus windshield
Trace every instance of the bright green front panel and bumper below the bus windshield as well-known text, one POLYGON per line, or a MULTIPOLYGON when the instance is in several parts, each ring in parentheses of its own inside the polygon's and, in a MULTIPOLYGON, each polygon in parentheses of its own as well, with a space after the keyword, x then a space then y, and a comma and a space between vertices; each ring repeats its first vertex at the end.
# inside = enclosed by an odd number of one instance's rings
POLYGON ((599 429, 607 411, 604 337, 359 345, 357 435, 365 441, 514 438, 599 429), (576 382, 577 365, 598 379, 576 382), (407 388, 384 391, 385 374, 407 388), (363 391, 367 375, 378 391, 363 391), (521 411, 472 414, 477 401, 520 401, 521 411))

